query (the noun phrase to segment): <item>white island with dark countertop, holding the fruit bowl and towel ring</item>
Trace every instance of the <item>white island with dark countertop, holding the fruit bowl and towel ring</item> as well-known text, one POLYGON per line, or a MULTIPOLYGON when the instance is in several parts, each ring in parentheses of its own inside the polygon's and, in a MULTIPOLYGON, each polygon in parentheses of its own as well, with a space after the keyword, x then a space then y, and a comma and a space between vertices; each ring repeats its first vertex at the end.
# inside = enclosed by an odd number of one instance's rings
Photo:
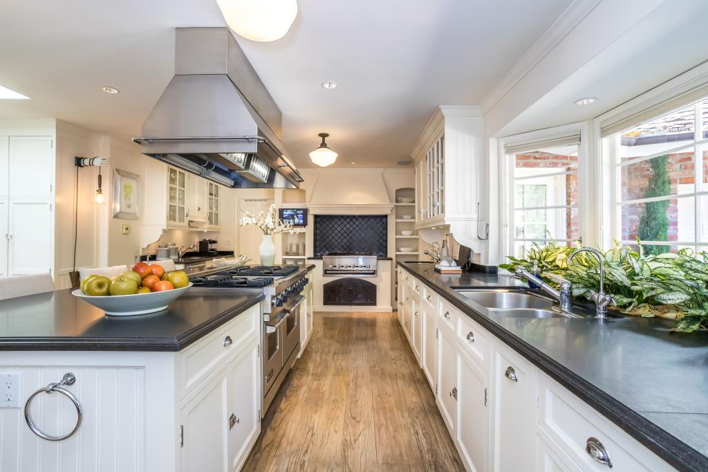
POLYGON ((260 432, 261 291, 192 288, 167 310, 108 317, 56 291, 0 301, 0 470, 237 470, 260 432), (60 390, 45 393, 72 373, 60 390), (76 434, 62 437, 81 417, 76 434), (215 428, 214 425, 224 425, 215 428), (70 465, 71 464, 71 465, 70 465))

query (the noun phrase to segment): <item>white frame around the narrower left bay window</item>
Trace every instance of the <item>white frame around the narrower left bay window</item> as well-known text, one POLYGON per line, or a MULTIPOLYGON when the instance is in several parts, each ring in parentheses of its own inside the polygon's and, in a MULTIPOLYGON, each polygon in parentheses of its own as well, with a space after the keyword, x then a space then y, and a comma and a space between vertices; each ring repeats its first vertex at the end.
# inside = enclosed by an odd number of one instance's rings
MULTIPOLYGON (((502 137, 498 140, 498 169, 499 169, 499 220, 500 220, 500 235, 501 242, 499 248, 503 254, 499 254, 500 260, 506 259, 506 254, 514 254, 514 242, 520 241, 514 237, 513 221, 514 221, 514 153, 508 154, 507 147, 518 145, 533 144, 539 149, 552 147, 554 140, 559 140, 562 137, 569 135, 580 135, 580 144, 578 144, 578 218, 580 220, 579 235, 583 240, 583 244, 593 245, 596 238, 593 232, 590 231, 592 225, 590 221, 593 218, 592 206, 590 202, 590 189, 593 186, 591 172, 593 164, 593 154, 590 153, 591 136, 590 122, 581 121, 578 123, 570 123, 568 125, 555 126, 554 128, 545 128, 543 130, 530 131, 518 135, 510 135, 502 137)), ((549 172, 547 174, 539 174, 539 176, 560 175, 567 172, 549 172)), ((546 207, 544 207, 546 208, 546 207)), ((559 208, 566 208, 561 206, 559 208)), ((561 241, 561 240, 559 240, 561 241)), ((565 241, 565 240, 562 240, 565 241)))

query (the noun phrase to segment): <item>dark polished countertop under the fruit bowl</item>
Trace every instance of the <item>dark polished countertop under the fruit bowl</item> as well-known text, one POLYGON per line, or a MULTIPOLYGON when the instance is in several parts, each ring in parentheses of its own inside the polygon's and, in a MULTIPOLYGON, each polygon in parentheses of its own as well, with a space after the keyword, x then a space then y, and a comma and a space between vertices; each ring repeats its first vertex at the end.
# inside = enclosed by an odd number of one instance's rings
POLYGON ((261 291, 192 288, 167 310, 126 317, 104 315, 71 289, 0 300, 0 350, 181 351, 261 300, 261 291))

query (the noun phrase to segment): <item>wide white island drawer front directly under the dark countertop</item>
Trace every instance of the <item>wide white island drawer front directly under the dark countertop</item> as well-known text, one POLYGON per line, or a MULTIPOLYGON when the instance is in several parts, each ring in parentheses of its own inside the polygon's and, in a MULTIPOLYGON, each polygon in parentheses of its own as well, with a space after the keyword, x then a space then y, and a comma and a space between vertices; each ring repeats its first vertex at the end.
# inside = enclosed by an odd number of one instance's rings
POLYGON ((261 343, 261 304, 218 327, 178 354, 178 394, 183 398, 232 354, 256 339, 261 343))

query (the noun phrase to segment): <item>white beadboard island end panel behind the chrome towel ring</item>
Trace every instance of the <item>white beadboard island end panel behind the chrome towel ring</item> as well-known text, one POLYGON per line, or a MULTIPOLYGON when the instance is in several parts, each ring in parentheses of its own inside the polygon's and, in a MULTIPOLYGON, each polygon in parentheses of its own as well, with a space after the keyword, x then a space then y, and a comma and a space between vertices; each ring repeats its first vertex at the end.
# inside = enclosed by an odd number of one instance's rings
MULTIPOLYGON (((3 472, 144 471, 144 369, 132 367, 0 368, 21 373, 22 408, 0 409, 0 470, 3 472), (72 371, 67 386, 79 399, 84 419, 73 437, 60 442, 40 439, 25 423, 24 403, 35 390, 72 371)), ((31 415, 47 434, 69 432, 76 409, 60 393, 38 395, 31 415)))

